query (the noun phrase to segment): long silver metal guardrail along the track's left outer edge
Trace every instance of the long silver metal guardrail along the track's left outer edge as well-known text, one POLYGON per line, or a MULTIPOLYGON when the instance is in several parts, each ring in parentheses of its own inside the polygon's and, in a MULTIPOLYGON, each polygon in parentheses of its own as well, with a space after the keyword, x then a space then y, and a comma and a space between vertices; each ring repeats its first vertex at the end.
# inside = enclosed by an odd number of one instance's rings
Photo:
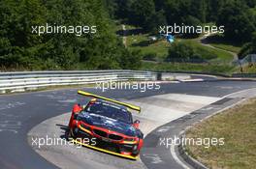
POLYGON ((156 80, 157 73, 141 70, 68 70, 0 72, 0 93, 48 86, 80 85, 102 81, 156 80))

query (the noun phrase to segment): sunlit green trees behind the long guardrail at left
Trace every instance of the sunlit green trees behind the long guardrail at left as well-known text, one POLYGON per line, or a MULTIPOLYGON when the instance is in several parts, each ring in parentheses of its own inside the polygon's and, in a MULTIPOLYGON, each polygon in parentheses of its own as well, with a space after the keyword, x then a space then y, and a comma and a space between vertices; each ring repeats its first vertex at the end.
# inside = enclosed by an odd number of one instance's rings
POLYGON ((128 69, 140 59, 124 48, 114 33, 101 0, 0 1, 0 66, 27 70, 128 69), (95 13, 97 12, 97 13, 95 13), (32 34, 32 26, 97 26, 95 35, 32 34), (123 64, 126 60, 126 64, 123 64), (132 63, 132 64, 131 64, 132 63))

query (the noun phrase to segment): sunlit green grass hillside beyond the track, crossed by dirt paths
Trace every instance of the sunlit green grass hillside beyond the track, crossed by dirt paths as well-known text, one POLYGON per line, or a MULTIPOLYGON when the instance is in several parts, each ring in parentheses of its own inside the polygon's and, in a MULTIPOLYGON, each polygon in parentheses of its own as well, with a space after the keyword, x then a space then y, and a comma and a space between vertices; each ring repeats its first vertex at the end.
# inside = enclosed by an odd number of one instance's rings
MULTIPOLYGON (((126 29, 132 30, 136 29, 136 27, 127 25, 126 29)), ((233 66, 230 66, 234 59, 231 53, 205 46, 199 42, 199 39, 176 39, 176 41, 189 43, 203 59, 208 60, 209 64, 165 63, 163 61, 168 56, 168 50, 172 44, 165 40, 150 42, 148 37, 148 34, 129 35, 126 41, 129 50, 141 50, 143 56, 148 54, 155 55, 153 60, 158 63, 143 62, 142 70, 182 70, 226 74, 231 74, 235 70, 233 66)))

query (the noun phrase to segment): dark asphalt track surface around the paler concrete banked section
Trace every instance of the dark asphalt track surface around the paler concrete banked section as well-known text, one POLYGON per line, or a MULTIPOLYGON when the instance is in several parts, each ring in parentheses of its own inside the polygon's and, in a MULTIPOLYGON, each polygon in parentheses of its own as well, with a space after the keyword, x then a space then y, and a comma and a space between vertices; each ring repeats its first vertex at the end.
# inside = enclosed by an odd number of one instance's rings
MULTIPOLYGON (((105 93, 96 89, 84 90, 113 99, 134 100, 165 94, 221 98, 255 87, 256 82, 253 81, 210 79, 203 82, 163 83, 160 90, 150 90, 145 93, 131 90, 110 90, 105 93)), ((31 148, 27 141, 27 133, 43 121, 69 112, 74 102, 77 101, 84 102, 84 99, 77 95, 77 89, 0 96, 0 168, 56 168, 31 148)), ((232 100, 230 101, 232 102, 232 100)), ((220 106, 220 104, 215 104, 215 106, 220 106)), ((182 124, 185 124, 186 121, 183 122, 182 118, 181 120, 179 118, 174 122, 179 122, 180 127, 182 127, 182 124)), ((148 133, 145 137, 145 148, 141 155, 144 165, 147 168, 166 168, 167 165, 173 166, 172 168, 180 168, 176 160, 173 160, 169 150, 168 152, 166 150, 159 151, 157 142, 152 142, 152 140, 157 140, 154 137, 156 130, 148 133)), ((170 131, 172 132, 173 129, 171 128, 170 131)), ((109 158, 108 155, 103 155, 109 158)), ((113 158, 113 156, 110 156, 110 158, 113 158)), ((114 158, 118 157, 114 156, 114 158)), ((132 162, 130 165, 132 165, 132 162)))

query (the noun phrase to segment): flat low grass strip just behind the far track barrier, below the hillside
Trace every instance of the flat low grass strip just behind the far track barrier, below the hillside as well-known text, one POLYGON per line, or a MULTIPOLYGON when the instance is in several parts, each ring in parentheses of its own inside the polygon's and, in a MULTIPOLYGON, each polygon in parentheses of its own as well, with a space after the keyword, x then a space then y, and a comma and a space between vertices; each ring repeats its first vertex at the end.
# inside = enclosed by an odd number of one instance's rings
POLYGON ((155 63, 143 62, 142 70, 163 70, 163 71, 197 71, 209 73, 222 73, 230 75, 235 69, 227 65, 215 64, 191 64, 191 63, 155 63))

